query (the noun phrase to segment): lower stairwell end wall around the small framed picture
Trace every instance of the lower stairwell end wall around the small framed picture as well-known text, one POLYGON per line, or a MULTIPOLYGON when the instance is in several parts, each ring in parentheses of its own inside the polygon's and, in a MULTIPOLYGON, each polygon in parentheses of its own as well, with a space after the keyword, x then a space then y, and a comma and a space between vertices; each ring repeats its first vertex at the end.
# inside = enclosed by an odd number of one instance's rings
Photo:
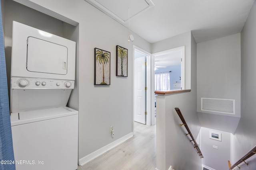
POLYGON ((201 128, 201 151, 204 154, 202 164, 215 170, 228 170, 228 160, 230 159, 230 133, 216 131, 215 129, 201 128), (221 141, 209 138, 210 131, 221 133, 221 141), (214 149, 215 145, 218 149, 214 149))

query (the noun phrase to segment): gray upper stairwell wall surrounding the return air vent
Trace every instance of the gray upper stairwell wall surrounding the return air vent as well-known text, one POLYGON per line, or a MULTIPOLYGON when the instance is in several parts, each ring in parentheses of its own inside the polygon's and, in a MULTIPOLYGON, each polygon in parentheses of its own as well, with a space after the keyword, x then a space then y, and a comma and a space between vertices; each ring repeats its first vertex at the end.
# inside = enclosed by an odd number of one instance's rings
POLYGON ((197 111, 240 117, 240 33, 197 44, 197 111), (201 98, 234 99, 236 114, 201 111, 201 98))

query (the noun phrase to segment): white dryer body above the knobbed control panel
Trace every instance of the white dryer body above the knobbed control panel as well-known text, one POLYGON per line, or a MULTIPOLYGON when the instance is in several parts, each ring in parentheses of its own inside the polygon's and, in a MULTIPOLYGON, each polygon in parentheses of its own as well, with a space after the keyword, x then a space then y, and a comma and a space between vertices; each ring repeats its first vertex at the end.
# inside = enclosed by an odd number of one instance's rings
POLYGON ((75 63, 74 41, 13 21, 12 77, 75 80, 75 63))

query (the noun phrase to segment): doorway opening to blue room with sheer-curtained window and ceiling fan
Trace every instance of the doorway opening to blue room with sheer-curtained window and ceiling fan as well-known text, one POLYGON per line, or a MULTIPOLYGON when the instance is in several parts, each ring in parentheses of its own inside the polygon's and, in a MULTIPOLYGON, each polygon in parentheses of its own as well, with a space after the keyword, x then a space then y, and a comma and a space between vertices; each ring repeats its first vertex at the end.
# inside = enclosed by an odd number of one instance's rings
MULTIPOLYGON (((184 58, 185 46, 154 53, 154 91, 169 91, 184 89, 184 58)), ((152 92, 154 94, 154 92, 152 92)), ((156 94, 154 94, 154 122, 156 122, 156 94)))

